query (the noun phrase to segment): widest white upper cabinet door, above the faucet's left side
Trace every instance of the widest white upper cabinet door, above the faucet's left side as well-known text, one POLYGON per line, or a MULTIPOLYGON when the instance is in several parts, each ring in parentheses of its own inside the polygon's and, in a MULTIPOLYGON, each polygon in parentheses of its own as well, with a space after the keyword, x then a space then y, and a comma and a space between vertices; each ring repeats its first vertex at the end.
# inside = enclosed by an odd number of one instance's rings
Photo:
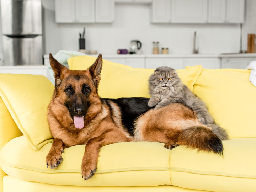
POLYGON ((206 23, 207 0, 172 0, 172 23, 206 23))

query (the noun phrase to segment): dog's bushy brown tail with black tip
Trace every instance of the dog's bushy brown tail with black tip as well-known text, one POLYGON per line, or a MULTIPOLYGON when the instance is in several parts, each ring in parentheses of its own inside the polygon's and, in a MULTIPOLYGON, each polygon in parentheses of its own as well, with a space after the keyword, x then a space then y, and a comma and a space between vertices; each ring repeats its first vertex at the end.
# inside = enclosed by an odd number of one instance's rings
POLYGON ((205 127, 195 126, 182 130, 177 145, 186 145, 198 150, 213 151, 223 156, 222 141, 205 127))

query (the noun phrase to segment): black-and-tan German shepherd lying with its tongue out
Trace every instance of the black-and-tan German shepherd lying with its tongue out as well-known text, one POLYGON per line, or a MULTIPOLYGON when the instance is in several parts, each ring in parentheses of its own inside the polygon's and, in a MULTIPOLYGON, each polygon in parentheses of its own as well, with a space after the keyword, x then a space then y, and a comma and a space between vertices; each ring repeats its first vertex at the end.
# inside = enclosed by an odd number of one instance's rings
POLYGON ((211 128, 199 123, 195 113, 185 105, 172 103, 154 110, 148 106, 149 98, 100 98, 97 91, 101 54, 83 71, 69 70, 52 54, 49 57, 55 89, 47 111, 54 137, 46 156, 47 167, 58 167, 64 149, 81 144, 86 144, 81 166, 84 180, 95 174, 100 148, 112 143, 144 140, 166 143, 169 149, 183 144, 223 153, 221 140, 211 128))

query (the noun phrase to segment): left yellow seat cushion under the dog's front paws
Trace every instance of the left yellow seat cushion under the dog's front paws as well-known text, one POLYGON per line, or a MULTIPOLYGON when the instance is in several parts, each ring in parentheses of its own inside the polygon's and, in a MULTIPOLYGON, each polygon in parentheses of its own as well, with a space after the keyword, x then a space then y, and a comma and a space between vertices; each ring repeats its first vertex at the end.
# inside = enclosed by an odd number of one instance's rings
POLYGON ((64 149, 57 169, 46 167, 51 143, 34 151, 24 136, 8 142, 1 150, 0 165, 10 176, 21 180, 75 186, 157 186, 171 184, 171 151, 155 142, 124 142, 100 149, 96 174, 87 181, 81 176, 85 145, 64 149))

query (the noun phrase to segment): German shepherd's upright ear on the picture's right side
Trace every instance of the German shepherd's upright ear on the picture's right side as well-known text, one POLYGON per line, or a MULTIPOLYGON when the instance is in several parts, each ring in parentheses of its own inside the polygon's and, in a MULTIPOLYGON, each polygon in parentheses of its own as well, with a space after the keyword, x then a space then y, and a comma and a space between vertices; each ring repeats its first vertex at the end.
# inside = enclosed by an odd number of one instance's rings
POLYGON ((98 58, 96 59, 94 64, 92 64, 92 66, 89 67, 89 71, 91 73, 92 80, 94 81, 94 84, 96 85, 97 88, 98 88, 98 84, 100 82, 101 69, 102 69, 102 55, 99 54, 98 58))

